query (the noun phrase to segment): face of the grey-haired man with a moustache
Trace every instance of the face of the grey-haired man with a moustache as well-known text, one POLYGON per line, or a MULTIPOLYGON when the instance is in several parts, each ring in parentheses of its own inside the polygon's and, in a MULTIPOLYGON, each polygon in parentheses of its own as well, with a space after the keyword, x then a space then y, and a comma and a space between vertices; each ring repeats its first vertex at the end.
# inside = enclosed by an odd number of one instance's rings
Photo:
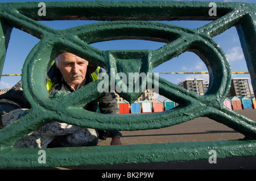
POLYGON ((76 89, 85 79, 88 62, 72 53, 62 53, 57 59, 56 66, 60 69, 65 81, 76 89))

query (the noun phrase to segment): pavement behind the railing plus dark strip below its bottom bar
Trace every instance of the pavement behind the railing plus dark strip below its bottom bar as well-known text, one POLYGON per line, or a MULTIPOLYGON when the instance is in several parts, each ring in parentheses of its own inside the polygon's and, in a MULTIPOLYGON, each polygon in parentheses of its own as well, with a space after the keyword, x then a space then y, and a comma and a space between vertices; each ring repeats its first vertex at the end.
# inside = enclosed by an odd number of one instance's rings
MULTIPOLYGON (((236 112, 256 121, 256 110, 237 110, 236 112)), ((217 140, 237 140, 243 134, 217 123, 207 117, 174 125, 168 128, 146 131, 123 131, 121 138, 123 145, 152 144, 166 142, 199 142, 217 140)), ((110 145, 111 139, 100 142, 99 146, 110 145)), ((256 169, 256 155, 251 157, 231 157, 217 159, 217 163, 210 164, 208 159, 195 161, 176 161, 164 163, 123 163, 116 165, 87 165, 74 167, 47 167, 28 169, 53 170, 254 170, 256 169)))

